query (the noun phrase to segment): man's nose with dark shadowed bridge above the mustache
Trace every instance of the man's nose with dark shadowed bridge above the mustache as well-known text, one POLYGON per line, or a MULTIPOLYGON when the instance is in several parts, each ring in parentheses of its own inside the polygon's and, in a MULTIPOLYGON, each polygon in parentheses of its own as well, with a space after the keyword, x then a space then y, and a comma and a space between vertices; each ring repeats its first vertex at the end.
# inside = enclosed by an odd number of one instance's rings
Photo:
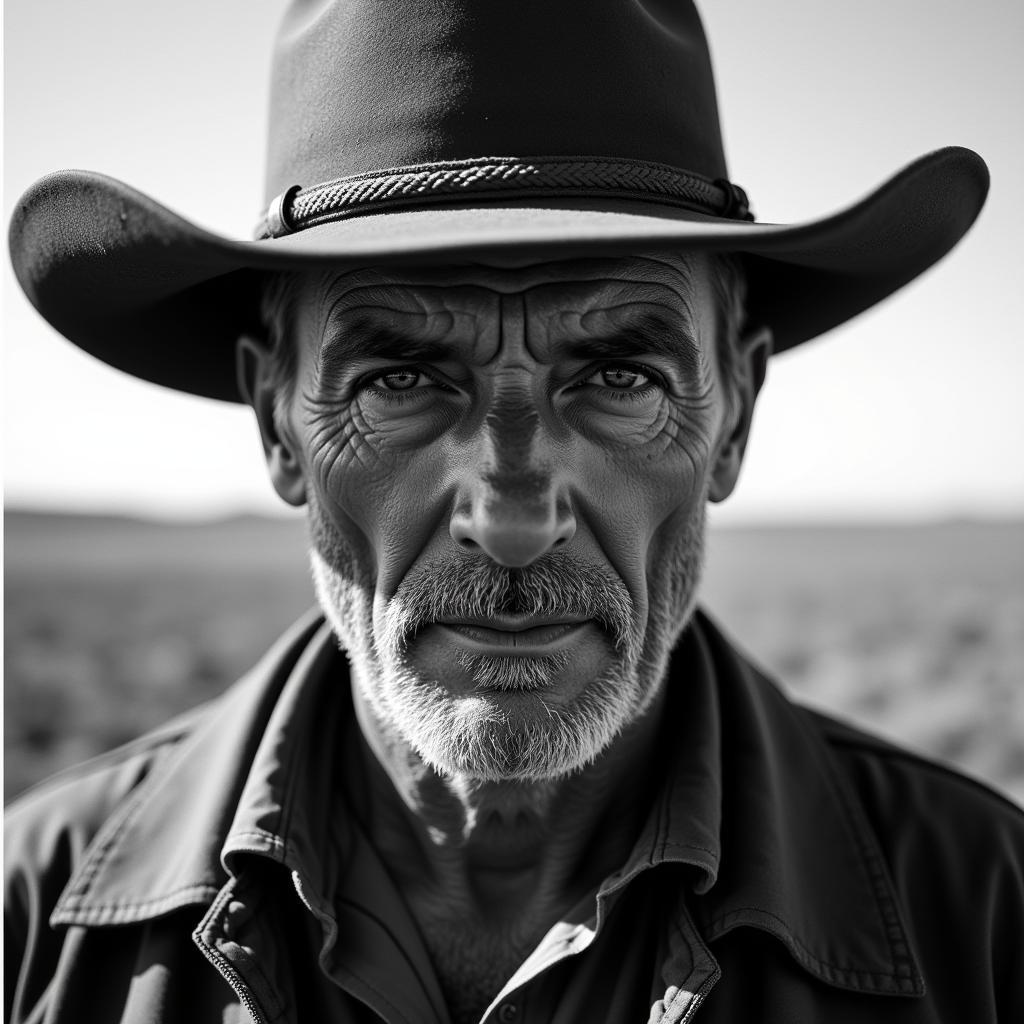
POLYGON ((541 443, 523 445, 523 430, 520 420, 511 438, 492 431, 484 451, 474 453, 473 465, 461 474, 450 526, 462 548, 509 568, 529 565, 570 541, 577 529, 554 460, 545 458, 541 443))

